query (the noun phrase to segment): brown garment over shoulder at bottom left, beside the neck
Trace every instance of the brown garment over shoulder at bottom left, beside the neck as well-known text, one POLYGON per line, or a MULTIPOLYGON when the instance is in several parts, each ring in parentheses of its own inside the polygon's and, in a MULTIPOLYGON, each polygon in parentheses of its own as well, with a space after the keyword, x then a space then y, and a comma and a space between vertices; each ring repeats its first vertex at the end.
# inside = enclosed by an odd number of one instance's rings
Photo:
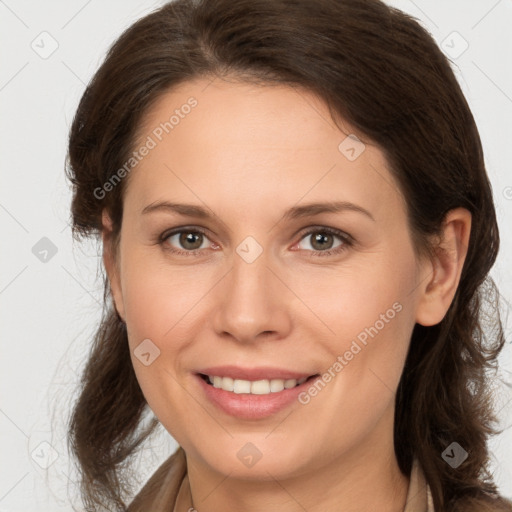
POLYGON ((178 449, 151 475, 127 508, 127 512, 168 510, 174 504, 187 472, 185 452, 178 449))

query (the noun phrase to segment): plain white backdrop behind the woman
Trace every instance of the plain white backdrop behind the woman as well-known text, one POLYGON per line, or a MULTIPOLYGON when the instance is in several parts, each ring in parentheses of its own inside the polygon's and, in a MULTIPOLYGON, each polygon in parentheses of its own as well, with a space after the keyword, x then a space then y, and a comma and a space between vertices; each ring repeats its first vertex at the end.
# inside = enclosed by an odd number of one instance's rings
MULTIPOLYGON (((234 0, 235 1, 235 0, 234 0)), ((0 0, 0 511, 79 507, 65 424, 91 335, 102 279, 95 243, 74 244, 64 178, 68 129, 107 48, 162 2, 0 0)), ((453 62, 475 115, 501 227, 492 275, 504 299, 512 380, 512 3, 395 0, 453 62)), ((496 379, 505 431, 491 441, 493 470, 512 496, 512 388, 496 379)), ((163 429, 140 455, 142 482, 174 450, 163 429)))

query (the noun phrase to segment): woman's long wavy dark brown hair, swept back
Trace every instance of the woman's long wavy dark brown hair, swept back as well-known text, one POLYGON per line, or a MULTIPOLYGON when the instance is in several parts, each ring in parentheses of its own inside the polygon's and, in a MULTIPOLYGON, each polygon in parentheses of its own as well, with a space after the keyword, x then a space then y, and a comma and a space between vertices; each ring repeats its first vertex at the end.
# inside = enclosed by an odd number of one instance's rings
MULTIPOLYGON (((101 233, 104 208, 114 240, 129 176, 95 191, 123 166, 142 116, 173 86, 236 77, 316 93, 333 120, 346 119, 387 157, 403 193, 419 251, 445 214, 472 214, 470 244, 455 298, 438 325, 416 325, 396 395, 395 451, 409 474, 418 457, 436 512, 506 510, 489 472, 496 433, 489 370, 505 342, 502 323, 483 330, 488 277, 499 246, 491 186, 475 121, 449 62, 414 18, 378 0, 177 0, 140 19, 109 50, 70 130, 67 175, 76 239, 101 233), (458 442, 469 457, 441 457, 458 442)), ((430 247, 432 249, 432 247, 430 247)), ((154 430, 133 371, 126 328, 105 310, 69 424, 83 501, 122 510, 127 463, 154 430)), ((491 307, 498 299, 491 302, 491 307)), ((508 509, 510 510, 510 509, 508 509)))

